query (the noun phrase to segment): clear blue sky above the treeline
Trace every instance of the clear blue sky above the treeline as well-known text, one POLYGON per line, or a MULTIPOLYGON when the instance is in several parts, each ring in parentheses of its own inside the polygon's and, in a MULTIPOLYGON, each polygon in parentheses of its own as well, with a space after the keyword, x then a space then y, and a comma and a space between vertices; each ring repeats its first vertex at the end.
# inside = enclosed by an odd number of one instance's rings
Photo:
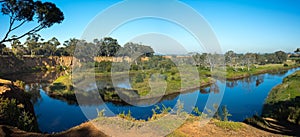
MULTIPOLYGON (((89 25, 95 20, 109 22, 114 17, 129 14, 114 13, 110 17, 99 19, 105 11, 122 2, 117 0, 42 1, 55 3, 64 13, 65 20, 61 24, 55 24, 51 28, 40 31, 39 34, 44 39, 57 37, 61 43, 70 38, 85 38, 86 30, 90 29, 89 25)), ((166 1, 172 3, 175 0, 166 1)), ((160 1, 155 0, 143 2, 148 2, 149 5, 161 4, 160 1)), ((237 53, 266 53, 278 50, 292 52, 300 47, 300 0, 182 0, 180 2, 191 7, 209 24, 223 52, 228 50, 237 53)), ((137 5, 134 10, 139 12, 144 9, 137 5)), ((169 10, 169 7, 153 10, 164 13, 169 10)), ((178 8, 178 11, 181 9, 178 8)), ((170 15, 172 13, 168 12, 170 15)), ((184 14, 185 11, 182 13, 184 14)), ((7 16, 0 15, 0 37, 7 30, 8 21, 7 16)), ((189 21, 194 20, 191 17, 189 21)), ((194 23, 197 24, 197 22, 194 23)), ((19 35, 34 25, 35 23, 27 24, 14 34, 19 35)), ((133 41, 156 46, 157 50, 166 47, 165 50, 169 49, 173 53, 204 52, 202 41, 199 44, 199 40, 190 33, 193 31, 186 30, 172 21, 145 17, 119 24, 108 36, 118 39, 120 45, 133 41), (170 42, 172 40, 173 42, 170 42), (174 43, 181 47, 172 47, 174 43), (178 49, 177 52, 171 50, 172 48, 178 49)))

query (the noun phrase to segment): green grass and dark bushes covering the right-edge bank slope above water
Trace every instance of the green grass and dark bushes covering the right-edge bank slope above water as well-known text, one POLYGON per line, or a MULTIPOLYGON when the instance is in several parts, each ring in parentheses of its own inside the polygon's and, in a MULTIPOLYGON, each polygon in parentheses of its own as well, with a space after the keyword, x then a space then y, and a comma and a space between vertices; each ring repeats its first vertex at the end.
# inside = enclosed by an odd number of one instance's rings
POLYGON ((262 116, 300 125, 300 71, 284 78, 266 99, 262 116))

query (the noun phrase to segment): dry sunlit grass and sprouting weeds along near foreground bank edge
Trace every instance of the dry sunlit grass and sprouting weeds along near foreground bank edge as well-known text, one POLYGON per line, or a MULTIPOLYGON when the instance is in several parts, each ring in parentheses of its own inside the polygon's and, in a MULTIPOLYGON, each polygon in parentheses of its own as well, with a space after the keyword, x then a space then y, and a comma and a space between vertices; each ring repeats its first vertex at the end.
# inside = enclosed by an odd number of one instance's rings
MULTIPOLYGON (((198 111, 198 108, 194 109, 193 114, 188 114, 183 110, 183 103, 177 102, 176 107, 171 109, 170 107, 158 107, 156 106, 153 110, 153 115, 145 120, 137 120, 131 116, 131 112, 120 113, 117 117, 106 117, 104 110, 98 112, 98 117, 93 120, 93 123, 99 125, 99 127, 114 127, 120 133, 126 133, 130 131, 144 131, 144 134, 148 132, 153 133, 153 135, 159 135, 160 133, 170 133, 167 136, 180 136, 184 135, 178 131, 179 126, 185 126, 189 123, 194 123, 197 121, 207 120, 207 115, 198 111), (197 113, 196 113, 197 112, 197 113), (200 115, 199 115, 200 114, 200 115), (176 119, 176 120, 174 120, 176 119), (124 132, 123 132, 124 131, 124 132), (162 132, 163 131, 163 132, 162 132)), ((218 114, 221 116, 228 115, 228 110, 226 106, 218 109, 218 114), (223 111, 225 110, 225 111, 223 111)), ((215 115, 209 123, 213 123, 216 127, 224 129, 226 131, 238 131, 245 128, 243 123, 227 121, 225 117, 215 115)), ((197 125, 199 126, 199 125, 197 125)), ((105 130, 103 130, 105 131, 105 130)), ((139 133, 139 132, 135 132, 139 133)))

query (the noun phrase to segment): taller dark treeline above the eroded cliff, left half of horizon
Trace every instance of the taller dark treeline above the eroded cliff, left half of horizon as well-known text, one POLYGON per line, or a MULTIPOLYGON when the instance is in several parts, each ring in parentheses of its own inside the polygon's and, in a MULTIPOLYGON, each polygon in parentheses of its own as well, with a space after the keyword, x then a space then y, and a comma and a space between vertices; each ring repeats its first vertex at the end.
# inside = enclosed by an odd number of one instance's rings
POLYGON ((134 56, 139 53, 144 56, 152 56, 154 51, 150 46, 126 43, 123 47, 118 44, 116 39, 105 37, 94 39, 93 42, 71 38, 62 44, 57 38, 45 41, 40 35, 30 35, 24 43, 19 40, 11 42, 11 48, 0 45, 0 55, 14 56, 74 56, 74 53, 93 55, 93 56, 134 56), (92 53, 91 53, 92 52, 92 53))

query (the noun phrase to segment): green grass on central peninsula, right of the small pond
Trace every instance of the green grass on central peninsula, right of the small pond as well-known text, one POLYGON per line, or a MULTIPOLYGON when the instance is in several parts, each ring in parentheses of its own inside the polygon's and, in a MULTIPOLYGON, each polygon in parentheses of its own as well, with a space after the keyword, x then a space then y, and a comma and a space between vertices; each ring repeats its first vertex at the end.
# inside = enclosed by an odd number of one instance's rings
MULTIPOLYGON (((171 94, 178 92, 180 90, 188 90, 191 88, 200 87, 200 85, 208 85, 212 83, 212 79, 199 74, 199 77, 195 76, 193 73, 182 73, 180 74, 176 68, 172 68, 172 71, 160 72, 156 70, 148 70, 142 72, 145 76, 142 82, 137 82, 136 77, 134 76, 131 80, 132 88, 137 90, 141 96, 155 96, 160 94, 171 94), (154 75, 162 76, 164 78, 153 78, 154 75), (166 83, 164 83, 166 82, 166 83), (152 88, 149 84, 152 84, 152 88), (156 89, 155 87, 159 87, 156 89), (162 89, 165 87, 166 89, 162 89), (151 92, 150 92, 151 91, 151 92)), ((185 68, 186 72, 189 72, 189 69, 185 68)), ((192 71, 192 70, 191 70, 192 71)), ((141 72, 140 72, 141 73, 141 72)), ((207 73, 205 73, 207 74, 207 73)))

